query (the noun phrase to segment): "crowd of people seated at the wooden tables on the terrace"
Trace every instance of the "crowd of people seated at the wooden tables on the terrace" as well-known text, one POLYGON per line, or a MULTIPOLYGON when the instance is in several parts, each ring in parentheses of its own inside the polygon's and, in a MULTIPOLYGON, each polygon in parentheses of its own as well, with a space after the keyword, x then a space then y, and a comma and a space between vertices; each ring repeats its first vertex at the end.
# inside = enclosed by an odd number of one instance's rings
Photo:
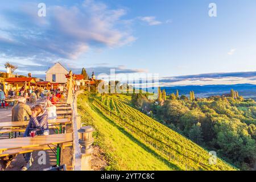
MULTIPOLYGON (((22 94, 22 93, 20 93, 22 94)), ((5 93, 0 90, 0 101, 5 100, 5 93)), ((47 94, 42 94, 42 92, 36 92, 35 90, 24 91, 22 96, 18 97, 18 103, 13 106, 11 110, 11 121, 29 121, 26 131, 23 137, 32 136, 31 133, 35 135, 49 135, 48 119, 56 119, 56 104, 59 98, 65 98, 65 94, 60 92, 60 90, 55 90, 55 92, 47 92, 47 94), (38 93, 40 96, 38 97, 38 93), (41 98, 44 100, 44 104, 35 104, 36 100, 41 98), (31 102, 33 105, 30 107, 27 102, 31 102)), ((21 170, 26 171, 32 166, 32 153, 24 154, 25 163, 21 170)))

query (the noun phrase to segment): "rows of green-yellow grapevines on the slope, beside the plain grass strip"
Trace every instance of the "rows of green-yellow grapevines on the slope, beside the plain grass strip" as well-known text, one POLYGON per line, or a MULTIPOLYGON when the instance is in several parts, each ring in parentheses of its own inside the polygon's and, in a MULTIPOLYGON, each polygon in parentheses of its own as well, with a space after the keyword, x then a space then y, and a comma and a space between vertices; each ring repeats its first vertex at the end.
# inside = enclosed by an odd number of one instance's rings
MULTIPOLYGON (((90 96, 94 109, 181 170, 234 170, 219 158, 133 107, 129 99, 90 96)), ((129 152, 129 151, 127 151, 129 152)))

